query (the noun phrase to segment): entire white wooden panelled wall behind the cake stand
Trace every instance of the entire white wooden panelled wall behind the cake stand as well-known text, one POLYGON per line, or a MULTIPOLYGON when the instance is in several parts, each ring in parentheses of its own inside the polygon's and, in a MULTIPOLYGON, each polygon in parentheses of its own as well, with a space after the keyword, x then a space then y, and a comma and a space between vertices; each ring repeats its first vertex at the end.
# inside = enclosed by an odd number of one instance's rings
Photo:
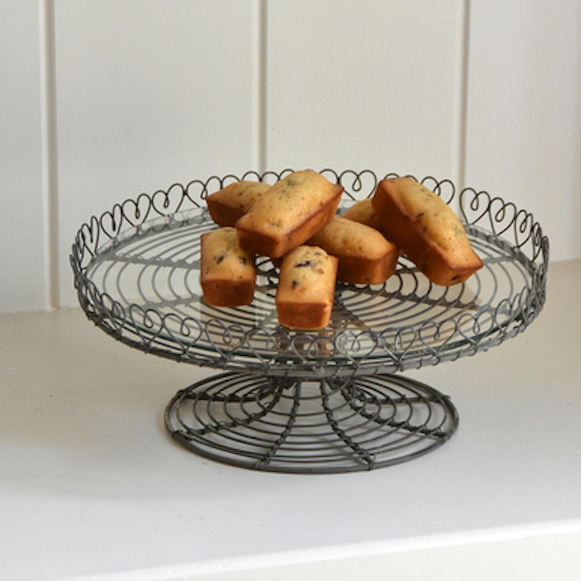
POLYGON ((555 259, 581 256, 580 12, 0 0, 0 311, 76 304, 68 254, 92 214, 254 168, 466 177, 532 210, 555 259))

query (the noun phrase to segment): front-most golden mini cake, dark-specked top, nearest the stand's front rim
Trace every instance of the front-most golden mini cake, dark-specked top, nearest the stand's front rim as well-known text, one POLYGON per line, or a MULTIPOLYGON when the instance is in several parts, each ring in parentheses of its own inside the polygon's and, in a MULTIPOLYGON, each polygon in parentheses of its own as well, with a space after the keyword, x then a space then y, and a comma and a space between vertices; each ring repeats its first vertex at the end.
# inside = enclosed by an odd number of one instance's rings
POLYGON ((282 261, 277 288, 278 322, 293 329, 329 324, 338 260, 317 246, 299 246, 282 261))

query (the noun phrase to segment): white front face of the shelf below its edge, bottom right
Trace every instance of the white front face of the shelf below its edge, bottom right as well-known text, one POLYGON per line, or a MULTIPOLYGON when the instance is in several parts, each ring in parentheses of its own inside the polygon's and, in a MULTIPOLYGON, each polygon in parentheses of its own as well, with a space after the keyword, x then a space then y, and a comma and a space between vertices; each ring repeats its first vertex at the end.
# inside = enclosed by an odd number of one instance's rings
MULTIPOLYGON (((195 581, 295 581, 296 579, 353 579, 399 581, 576 581, 579 575, 581 533, 365 555, 335 561, 215 573, 195 581), (550 555, 550 558, 549 558, 550 555)), ((180 580, 189 581, 189 580, 180 580)))

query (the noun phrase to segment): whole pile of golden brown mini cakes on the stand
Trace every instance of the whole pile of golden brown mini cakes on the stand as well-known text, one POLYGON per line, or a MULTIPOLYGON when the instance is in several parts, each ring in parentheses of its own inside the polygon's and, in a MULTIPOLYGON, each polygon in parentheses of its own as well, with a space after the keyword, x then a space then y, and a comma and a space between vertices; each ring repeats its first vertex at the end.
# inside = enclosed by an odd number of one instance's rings
POLYGON ((214 306, 250 304, 255 257, 280 268, 276 295, 284 327, 328 325, 336 281, 382 284, 400 252, 434 284, 464 282, 482 267, 454 211, 411 178, 379 182, 338 216, 343 187, 312 170, 275 184, 239 181, 207 197, 218 228, 203 234, 200 281, 214 306))

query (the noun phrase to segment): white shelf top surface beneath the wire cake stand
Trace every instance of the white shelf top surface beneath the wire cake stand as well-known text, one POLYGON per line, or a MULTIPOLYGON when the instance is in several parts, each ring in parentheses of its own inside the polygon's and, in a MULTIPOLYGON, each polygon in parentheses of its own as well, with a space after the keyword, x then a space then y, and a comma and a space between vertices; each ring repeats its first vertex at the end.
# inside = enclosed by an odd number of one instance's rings
POLYGON ((165 581, 578 535, 579 288, 581 260, 551 264, 524 333, 410 372, 452 397, 458 432, 346 475, 198 457, 163 411, 212 371, 130 349, 78 309, 0 315, 0 578, 165 581))

